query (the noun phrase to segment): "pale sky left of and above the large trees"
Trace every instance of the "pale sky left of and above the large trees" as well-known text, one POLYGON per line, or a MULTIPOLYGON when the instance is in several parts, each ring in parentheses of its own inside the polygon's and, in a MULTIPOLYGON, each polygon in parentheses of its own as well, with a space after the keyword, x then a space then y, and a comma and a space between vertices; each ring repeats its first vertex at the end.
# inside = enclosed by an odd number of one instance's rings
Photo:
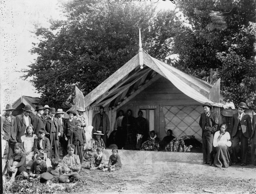
MULTIPOLYGON (((21 95, 40 97, 29 80, 23 80, 22 70, 34 62, 37 55, 29 50, 38 40, 34 25, 49 27, 50 19, 60 19, 60 3, 68 0, 12 0, 0 3, 0 113, 6 104, 13 104, 21 95)), ((117 0, 109 0, 117 1, 117 0)), ((119 0, 121 2, 121 0, 119 0)), ((129 0, 131 1, 131 0, 129 0)), ((138 1, 138 0, 137 0, 138 1)), ((142 4, 150 0, 141 0, 142 4)), ((174 9, 170 0, 151 0, 159 9, 174 9)))

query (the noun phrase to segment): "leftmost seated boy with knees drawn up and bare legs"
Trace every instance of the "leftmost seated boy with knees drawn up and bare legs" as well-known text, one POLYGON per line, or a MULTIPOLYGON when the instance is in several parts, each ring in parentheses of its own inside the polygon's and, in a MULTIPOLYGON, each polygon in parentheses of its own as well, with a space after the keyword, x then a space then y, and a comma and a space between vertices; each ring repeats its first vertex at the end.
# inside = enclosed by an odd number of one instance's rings
POLYGON ((14 152, 8 158, 8 170, 12 173, 11 181, 14 181, 15 176, 26 171, 26 154, 24 153, 22 143, 16 143, 14 145, 14 152))

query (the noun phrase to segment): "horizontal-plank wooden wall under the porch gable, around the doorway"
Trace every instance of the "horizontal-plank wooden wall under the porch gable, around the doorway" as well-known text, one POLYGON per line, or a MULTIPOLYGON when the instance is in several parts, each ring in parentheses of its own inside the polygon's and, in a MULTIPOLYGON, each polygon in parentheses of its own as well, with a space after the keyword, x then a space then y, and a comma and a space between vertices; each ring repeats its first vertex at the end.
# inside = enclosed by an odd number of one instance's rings
MULTIPOLYGON (((124 104, 117 110, 123 110, 126 112, 131 109, 133 116, 136 118, 138 113, 136 107, 139 105, 160 105, 159 111, 159 129, 155 129, 157 135, 162 140, 167 134, 165 132, 165 120, 163 114, 163 106, 190 106, 201 105, 201 103, 195 101, 189 96, 183 94, 178 90, 168 79, 162 77, 155 83, 147 87, 129 102, 124 104)), ((199 122, 199 118, 198 118, 199 122)))

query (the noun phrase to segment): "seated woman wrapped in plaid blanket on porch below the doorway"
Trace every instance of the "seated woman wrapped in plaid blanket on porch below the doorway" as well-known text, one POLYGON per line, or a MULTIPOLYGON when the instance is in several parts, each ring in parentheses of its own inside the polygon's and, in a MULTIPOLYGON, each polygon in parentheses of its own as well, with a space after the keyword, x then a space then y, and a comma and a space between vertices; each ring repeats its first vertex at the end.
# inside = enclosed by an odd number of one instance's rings
POLYGON ((157 137, 155 131, 150 132, 150 137, 146 142, 141 145, 140 150, 147 150, 147 151, 158 151, 160 147, 160 139, 157 137))

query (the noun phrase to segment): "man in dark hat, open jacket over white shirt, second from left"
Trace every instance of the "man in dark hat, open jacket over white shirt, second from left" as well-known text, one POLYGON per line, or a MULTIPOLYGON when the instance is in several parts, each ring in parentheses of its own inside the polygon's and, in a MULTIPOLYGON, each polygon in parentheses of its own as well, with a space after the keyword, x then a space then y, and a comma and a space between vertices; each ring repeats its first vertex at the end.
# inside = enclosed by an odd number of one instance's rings
POLYGON ((31 124, 31 118, 29 114, 32 112, 31 106, 26 105, 23 108, 23 113, 15 117, 14 130, 17 133, 16 140, 21 143, 21 136, 24 136, 26 133, 26 128, 31 124))

